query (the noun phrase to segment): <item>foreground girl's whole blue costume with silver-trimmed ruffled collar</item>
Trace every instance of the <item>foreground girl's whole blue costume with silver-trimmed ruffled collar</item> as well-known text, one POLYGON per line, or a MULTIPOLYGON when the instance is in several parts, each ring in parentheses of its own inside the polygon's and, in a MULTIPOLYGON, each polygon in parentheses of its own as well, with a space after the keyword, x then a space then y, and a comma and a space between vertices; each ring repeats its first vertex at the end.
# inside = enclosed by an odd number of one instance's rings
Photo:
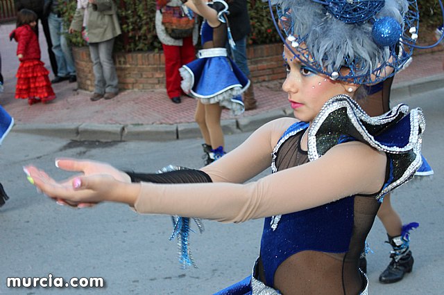
MULTIPOLYGON (((334 145, 361 141, 386 153, 384 185, 373 195, 344 197, 305 211, 267 217, 253 276, 218 295, 366 294, 359 258, 384 193, 413 177, 421 163, 425 127, 420 109, 398 105, 370 118, 347 96, 325 103, 307 132, 309 151, 300 147, 308 123, 291 125, 273 150, 273 172, 316 161, 334 145)), ((293 188, 298 197, 298 187, 293 188)))

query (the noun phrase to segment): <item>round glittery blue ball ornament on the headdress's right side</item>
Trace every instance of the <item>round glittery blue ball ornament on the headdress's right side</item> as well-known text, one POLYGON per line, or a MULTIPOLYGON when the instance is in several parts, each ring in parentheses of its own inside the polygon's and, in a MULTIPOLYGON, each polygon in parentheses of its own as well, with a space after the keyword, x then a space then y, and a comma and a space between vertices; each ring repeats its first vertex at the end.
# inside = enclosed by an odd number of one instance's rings
POLYGON ((401 25, 392 17, 382 17, 373 24, 372 37, 378 46, 395 45, 402 35, 401 25))

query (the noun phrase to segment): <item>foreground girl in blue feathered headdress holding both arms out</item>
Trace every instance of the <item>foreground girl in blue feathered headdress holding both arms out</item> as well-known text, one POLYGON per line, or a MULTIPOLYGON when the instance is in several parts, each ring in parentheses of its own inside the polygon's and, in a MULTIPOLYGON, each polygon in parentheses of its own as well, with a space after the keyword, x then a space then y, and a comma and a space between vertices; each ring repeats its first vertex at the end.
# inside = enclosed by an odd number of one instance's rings
POLYGON ((425 120, 406 105, 372 118, 352 99, 362 84, 402 69, 418 30, 418 10, 407 2, 361 3, 275 1, 287 35, 282 89, 296 118, 267 123, 218 161, 147 174, 62 159, 58 168, 83 175, 60 182, 35 166, 25 172, 61 204, 121 202, 138 213, 183 216, 175 233, 185 247, 188 217, 265 218, 253 274, 219 294, 367 294, 359 269, 366 236, 384 195, 420 167, 425 120), (271 175, 245 184, 270 164, 271 175))

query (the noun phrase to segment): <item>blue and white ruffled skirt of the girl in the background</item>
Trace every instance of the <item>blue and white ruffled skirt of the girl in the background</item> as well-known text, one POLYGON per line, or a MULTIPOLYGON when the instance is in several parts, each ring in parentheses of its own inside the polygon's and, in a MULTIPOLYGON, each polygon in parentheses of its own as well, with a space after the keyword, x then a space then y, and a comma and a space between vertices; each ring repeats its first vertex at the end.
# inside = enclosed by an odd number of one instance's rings
POLYGON ((198 59, 180 69, 180 87, 203 104, 219 103, 231 109, 234 115, 244 112, 241 93, 250 86, 250 80, 228 57, 225 48, 202 49, 198 59))

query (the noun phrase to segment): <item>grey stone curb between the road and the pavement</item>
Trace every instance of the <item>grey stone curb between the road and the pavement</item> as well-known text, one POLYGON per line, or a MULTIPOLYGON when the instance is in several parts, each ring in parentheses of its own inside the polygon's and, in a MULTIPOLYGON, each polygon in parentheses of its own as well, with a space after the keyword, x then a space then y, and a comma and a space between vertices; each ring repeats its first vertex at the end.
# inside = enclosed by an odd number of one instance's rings
MULTIPOLYGON (((405 100, 418 93, 444 88, 444 73, 427 78, 393 84, 391 100, 405 100)), ((223 120, 224 134, 251 132, 265 123, 292 116, 291 109, 272 109, 262 114, 223 120)), ((118 125, 118 124, 24 124, 15 125, 12 132, 38 134, 75 141, 171 141, 200 138, 197 123, 173 125, 118 125)))

